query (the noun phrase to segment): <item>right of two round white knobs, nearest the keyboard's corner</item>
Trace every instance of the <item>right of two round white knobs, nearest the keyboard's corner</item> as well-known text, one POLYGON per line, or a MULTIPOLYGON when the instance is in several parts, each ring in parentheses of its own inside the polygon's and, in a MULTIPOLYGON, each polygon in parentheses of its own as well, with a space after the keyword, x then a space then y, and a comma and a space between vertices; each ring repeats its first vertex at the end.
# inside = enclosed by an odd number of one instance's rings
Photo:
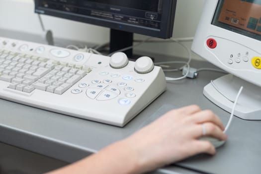
POLYGON ((139 74, 150 73, 154 68, 153 61, 151 58, 144 56, 136 60, 135 71, 139 74))

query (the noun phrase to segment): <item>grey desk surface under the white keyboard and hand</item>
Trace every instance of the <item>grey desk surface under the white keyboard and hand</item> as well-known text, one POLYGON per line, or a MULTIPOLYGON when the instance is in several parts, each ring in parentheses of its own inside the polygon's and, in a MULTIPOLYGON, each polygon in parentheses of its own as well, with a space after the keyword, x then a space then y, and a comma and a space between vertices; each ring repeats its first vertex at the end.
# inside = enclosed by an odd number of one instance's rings
MULTIPOLYGON (((0 35, 6 36, 2 33, 0 35)), ((212 67, 207 62, 198 61, 192 61, 191 66, 212 67)), ((167 76, 177 75, 170 73, 167 76)), ((171 108, 198 104, 202 109, 213 110, 226 124, 230 114, 202 94, 203 87, 220 76, 220 73, 201 72, 195 80, 169 83, 166 92, 124 128, 0 99, 0 142, 74 162, 129 136, 171 108)), ((217 149, 215 156, 198 155, 155 173, 260 173, 260 132, 261 121, 246 121, 235 117, 228 132, 228 141, 217 149)))

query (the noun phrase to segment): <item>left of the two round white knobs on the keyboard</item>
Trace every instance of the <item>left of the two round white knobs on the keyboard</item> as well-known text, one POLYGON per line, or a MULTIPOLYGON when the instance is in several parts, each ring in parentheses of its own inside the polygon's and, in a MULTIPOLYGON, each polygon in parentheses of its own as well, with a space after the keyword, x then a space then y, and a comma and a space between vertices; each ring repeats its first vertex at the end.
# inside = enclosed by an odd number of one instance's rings
POLYGON ((125 53, 118 52, 114 53, 110 57, 110 66, 115 69, 124 68, 128 65, 129 60, 125 53))

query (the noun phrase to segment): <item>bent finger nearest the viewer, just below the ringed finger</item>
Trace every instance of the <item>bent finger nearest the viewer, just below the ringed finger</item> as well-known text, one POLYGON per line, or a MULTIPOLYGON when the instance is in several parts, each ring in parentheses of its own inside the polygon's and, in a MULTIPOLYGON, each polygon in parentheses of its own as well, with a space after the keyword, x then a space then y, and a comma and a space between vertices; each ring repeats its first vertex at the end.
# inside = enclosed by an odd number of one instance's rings
MULTIPOLYGON (((191 146, 192 147, 192 146, 191 146)), ((194 154, 201 154, 201 153, 206 153, 210 155, 215 155, 216 149, 215 147, 209 142, 209 141, 194 141, 193 142, 193 151, 194 154)))

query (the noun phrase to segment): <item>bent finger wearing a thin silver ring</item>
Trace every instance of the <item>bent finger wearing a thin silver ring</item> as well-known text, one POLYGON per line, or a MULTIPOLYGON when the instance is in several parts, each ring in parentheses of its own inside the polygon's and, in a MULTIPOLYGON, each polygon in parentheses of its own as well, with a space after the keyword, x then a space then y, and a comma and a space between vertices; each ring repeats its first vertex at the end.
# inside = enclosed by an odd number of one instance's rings
POLYGON ((194 130, 192 130, 192 132, 193 132, 193 135, 195 138, 199 138, 202 136, 210 136, 213 138, 217 138, 219 140, 227 139, 227 135, 224 134, 223 131, 220 129, 220 127, 218 127, 217 125, 215 125, 211 122, 207 122, 207 123, 204 123, 204 127, 205 127, 204 132, 203 132, 202 124, 198 124, 194 127, 194 130))

